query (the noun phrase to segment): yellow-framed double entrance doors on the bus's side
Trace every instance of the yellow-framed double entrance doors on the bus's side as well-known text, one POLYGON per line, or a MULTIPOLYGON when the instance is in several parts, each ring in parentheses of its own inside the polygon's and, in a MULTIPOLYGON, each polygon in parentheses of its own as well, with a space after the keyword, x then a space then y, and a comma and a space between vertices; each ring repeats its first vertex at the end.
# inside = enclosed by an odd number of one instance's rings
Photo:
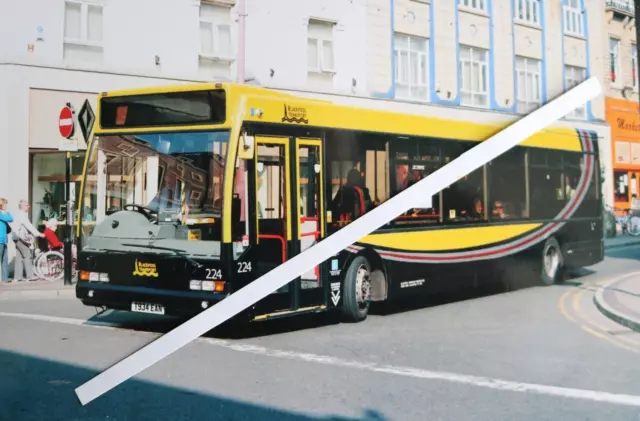
MULTIPOLYGON (((256 136, 255 144, 257 278, 322 238, 324 198, 320 140, 256 136)), ((261 300, 256 313, 322 305, 322 276, 320 268, 311 269, 261 300)))

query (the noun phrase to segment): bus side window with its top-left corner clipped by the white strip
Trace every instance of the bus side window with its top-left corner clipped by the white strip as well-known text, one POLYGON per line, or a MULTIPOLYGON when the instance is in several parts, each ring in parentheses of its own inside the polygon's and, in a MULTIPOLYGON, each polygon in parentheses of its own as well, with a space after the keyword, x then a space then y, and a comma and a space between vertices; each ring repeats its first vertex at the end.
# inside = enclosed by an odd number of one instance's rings
POLYGON ((528 216, 525 153, 515 148, 487 165, 489 219, 520 219, 528 216))

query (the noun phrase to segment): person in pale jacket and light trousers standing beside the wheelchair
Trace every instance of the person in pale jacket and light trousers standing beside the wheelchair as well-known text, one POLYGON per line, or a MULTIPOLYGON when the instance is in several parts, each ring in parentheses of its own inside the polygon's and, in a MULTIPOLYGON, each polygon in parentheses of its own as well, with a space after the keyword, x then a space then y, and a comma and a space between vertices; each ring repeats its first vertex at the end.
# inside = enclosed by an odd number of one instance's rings
POLYGON ((44 234, 36 229, 29 220, 29 203, 21 200, 18 204, 18 213, 13 222, 13 241, 16 244, 15 273, 13 275, 16 282, 22 279, 27 281, 35 280, 33 276, 33 251, 35 248, 35 238, 44 238, 44 234), (26 275, 26 278, 22 276, 26 275))

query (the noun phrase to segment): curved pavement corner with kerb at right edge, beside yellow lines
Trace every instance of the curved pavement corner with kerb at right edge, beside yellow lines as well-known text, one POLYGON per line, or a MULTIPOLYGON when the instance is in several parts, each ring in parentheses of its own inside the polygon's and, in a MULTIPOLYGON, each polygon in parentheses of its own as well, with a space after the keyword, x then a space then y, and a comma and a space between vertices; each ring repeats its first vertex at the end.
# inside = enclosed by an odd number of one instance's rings
POLYGON ((630 274, 602 285, 593 302, 611 320, 640 332, 640 275, 630 274))

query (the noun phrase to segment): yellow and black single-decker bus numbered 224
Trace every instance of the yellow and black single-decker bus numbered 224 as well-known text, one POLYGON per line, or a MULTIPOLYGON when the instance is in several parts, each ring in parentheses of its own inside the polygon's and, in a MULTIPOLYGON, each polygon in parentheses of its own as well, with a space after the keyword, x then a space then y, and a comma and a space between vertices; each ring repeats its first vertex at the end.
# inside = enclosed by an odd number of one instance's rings
MULTIPOLYGON (((76 297, 192 317, 504 127, 210 83, 105 92, 81 183, 76 297)), ((549 127, 236 316, 541 285, 604 258, 597 134, 549 127)))

